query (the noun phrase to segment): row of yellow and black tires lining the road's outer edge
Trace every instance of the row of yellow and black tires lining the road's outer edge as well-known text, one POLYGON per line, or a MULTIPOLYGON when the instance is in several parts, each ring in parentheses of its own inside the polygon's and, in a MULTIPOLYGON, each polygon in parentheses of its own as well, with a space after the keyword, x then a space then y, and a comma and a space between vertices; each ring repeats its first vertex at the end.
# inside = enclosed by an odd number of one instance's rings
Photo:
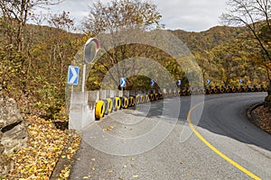
POLYGON ((95 106, 95 118, 96 120, 101 119, 104 115, 110 112, 116 112, 120 109, 127 109, 134 107, 141 103, 149 103, 158 101, 164 98, 173 98, 177 96, 195 95, 195 94, 225 94, 225 93, 251 93, 251 92, 267 92, 266 85, 234 85, 234 86, 205 86, 202 88, 179 88, 175 90, 168 90, 161 92, 155 90, 156 93, 150 94, 136 94, 135 96, 130 95, 129 97, 114 97, 107 98, 106 100, 100 100, 95 106))

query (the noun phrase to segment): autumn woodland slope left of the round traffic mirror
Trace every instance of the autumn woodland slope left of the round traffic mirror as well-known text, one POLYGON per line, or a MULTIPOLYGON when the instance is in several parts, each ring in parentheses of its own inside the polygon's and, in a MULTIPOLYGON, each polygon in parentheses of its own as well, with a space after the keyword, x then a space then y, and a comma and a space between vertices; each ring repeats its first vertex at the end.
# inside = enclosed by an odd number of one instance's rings
POLYGON ((83 36, 61 28, 27 24, 23 50, 19 50, 16 26, 12 31, 3 21, 0 26, 1 93, 13 97, 24 113, 51 119, 57 112, 64 114, 67 70, 84 43, 83 36))

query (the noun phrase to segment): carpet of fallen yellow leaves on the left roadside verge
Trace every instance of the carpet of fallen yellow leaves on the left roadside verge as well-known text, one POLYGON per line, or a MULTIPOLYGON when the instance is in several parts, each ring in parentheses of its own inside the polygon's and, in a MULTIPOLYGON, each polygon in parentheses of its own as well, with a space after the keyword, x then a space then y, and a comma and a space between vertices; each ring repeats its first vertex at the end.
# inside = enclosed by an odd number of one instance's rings
MULTIPOLYGON (((56 129, 51 121, 36 116, 29 116, 26 121, 30 123, 27 148, 11 157, 14 160, 14 169, 9 172, 8 178, 49 179, 70 136, 65 131, 56 129)), ((79 147, 79 142, 77 143, 78 146, 68 148, 68 153, 64 156, 71 158, 79 147)), ((64 169, 62 177, 67 179, 69 173, 70 168, 64 169)))

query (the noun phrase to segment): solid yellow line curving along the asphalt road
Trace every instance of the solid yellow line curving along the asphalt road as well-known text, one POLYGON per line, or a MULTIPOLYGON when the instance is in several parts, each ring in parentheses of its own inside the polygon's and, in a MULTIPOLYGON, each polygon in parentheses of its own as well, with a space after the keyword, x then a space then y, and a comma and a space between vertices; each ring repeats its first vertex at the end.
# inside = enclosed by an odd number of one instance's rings
POLYGON ((257 175, 254 175, 253 173, 251 173, 250 171, 248 171, 248 169, 246 169, 243 166, 238 165, 237 162, 235 162, 234 160, 232 160, 231 158, 227 157, 226 155, 224 155, 222 152, 220 152, 219 149, 215 148, 214 146, 212 146, 210 144, 210 142, 206 139, 204 139, 200 132, 198 130, 196 130, 192 124, 191 121, 191 113, 194 109, 196 109, 198 106, 200 106, 202 103, 207 103, 207 102, 211 102, 211 101, 215 101, 215 100, 210 100, 210 101, 206 101, 206 102, 201 102, 201 103, 197 103, 196 105, 194 105, 192 107, 192 109, 188 112, 188 116, 187 116, 187 121, 189 123, 190 128, 192 129, 192 131, 194 132, 194 134, 201 139, 201 141, 207 146, 209 147, 211 150, 213 150, 215 153, 217 153, 220 157, 224 158, 225 160, 227 160, 231 165, 236 166, 239 170, 243 171, 245 174, 249 175, 250 177, 252 177, 253 179, 261 179, 260 177, 258 177, 257 175))

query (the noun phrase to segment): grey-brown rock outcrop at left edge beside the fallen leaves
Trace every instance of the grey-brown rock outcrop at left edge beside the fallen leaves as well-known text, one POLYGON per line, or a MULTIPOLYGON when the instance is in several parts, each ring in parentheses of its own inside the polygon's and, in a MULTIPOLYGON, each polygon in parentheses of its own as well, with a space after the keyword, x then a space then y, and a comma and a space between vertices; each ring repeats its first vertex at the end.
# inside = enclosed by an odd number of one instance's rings
POLYGON ((8 158, 15 151, 26 147, 27 130, 23 116, 14 99, 0 97, 0 175, 13 167, 8 158))

